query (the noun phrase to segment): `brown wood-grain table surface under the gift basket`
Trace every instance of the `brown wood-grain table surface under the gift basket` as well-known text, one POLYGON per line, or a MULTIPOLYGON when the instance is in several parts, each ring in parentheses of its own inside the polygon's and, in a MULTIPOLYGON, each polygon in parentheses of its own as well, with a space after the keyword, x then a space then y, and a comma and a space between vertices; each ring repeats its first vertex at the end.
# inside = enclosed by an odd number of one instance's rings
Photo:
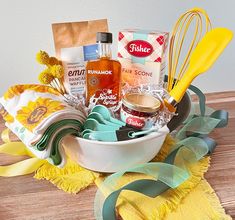
MULTIPOLYGON (((208 106, 227 110, 230 118, 226 128, 217 129, 210 135, 218 146, 212 155, 206 179, 217 192, 227 214, 235 219, 235 91, 206 96, 208 106)), ((0 131, 3 129, 1 120, 0 131)), ((18 157, 0 154, 0 165, 18 160, 18 157)), ((48 181, 39 181, 32 176, 0 178, 0 220, 94 219, 95 185, 77 195, 70 195, 48 181)))

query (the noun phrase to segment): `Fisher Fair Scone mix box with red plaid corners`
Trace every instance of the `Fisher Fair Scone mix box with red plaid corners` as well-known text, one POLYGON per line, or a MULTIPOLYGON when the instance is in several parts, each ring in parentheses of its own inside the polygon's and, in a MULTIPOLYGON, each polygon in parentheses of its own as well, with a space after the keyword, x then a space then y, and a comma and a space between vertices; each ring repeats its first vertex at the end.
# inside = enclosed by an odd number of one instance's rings
POLYGON ((122 65, 122 87, 161 85, 169 34, 126 29, 119 32, 118 60, 122 65))

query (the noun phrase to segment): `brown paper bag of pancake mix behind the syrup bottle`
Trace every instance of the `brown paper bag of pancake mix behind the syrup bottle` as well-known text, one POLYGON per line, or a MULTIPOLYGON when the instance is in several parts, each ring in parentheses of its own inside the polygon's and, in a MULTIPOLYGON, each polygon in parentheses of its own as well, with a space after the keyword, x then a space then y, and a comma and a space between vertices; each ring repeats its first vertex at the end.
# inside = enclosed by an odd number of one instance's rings
POLYGON ((107 19, 52 24, 56 56, 65 70, 68 93, 85 95, 86 61, 97 58, 96 33, 108 32, 107 19))

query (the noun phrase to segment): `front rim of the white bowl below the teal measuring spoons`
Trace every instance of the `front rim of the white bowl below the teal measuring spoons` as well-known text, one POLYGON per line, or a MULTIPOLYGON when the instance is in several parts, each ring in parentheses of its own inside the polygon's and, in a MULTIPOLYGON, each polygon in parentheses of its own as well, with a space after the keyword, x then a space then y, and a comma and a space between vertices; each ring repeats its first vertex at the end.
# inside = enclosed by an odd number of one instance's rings
POLYGON ((141 142, 141 141, 144 141, 144 140, 155 138, 157 136, 162 136, 164 134, 168 134, 170 132, 169 128, 167 126, 164 126, 164 127, 160 128, 159 131, 151 132, 150 134, 148 134, 144 137, 135 138, 135 139, 132 139, 132 140, 125 140, 125 141, 96 141, 96 140, 89 140, 89 139, 85 139, 85 138, 81 138, 81 137, 76 137, 76 139, 82 140, 82 141, 87 142, 87 143, 93 143, 93 144, 99 144, 99 145, 102 144, 102 145, 116 145, 116 146, 119 146, 119 145, 125 145, 127 143, 128 144, 138 143, 138 142, 141 142))

